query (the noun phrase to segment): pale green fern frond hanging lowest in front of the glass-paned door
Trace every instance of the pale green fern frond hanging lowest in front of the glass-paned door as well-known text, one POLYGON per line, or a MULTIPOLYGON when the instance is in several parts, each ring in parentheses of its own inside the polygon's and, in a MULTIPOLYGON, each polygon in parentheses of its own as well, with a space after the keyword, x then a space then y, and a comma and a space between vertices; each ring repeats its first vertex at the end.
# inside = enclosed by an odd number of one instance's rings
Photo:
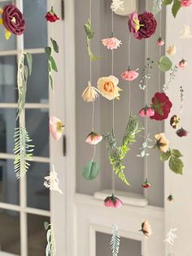
POLYGON ((34 146, 30 145, 32 139, 29 138, 28 132, 25 128, 15 128, 15 147, 14 147, 14 169, 17 179, 23 178, 30 163, 32 161, 34 146))

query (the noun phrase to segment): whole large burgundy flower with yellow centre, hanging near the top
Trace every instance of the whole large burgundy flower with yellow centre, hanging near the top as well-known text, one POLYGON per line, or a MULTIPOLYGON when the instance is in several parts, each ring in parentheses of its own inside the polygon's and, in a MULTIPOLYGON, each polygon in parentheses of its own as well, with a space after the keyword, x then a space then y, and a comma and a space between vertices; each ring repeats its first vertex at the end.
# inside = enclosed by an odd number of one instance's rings
POLYGON ((155 33, 157 21, 151 12, 143 12, 137 15, 133 13, 129 16, 129 31, 133 33, 134 38, 139 40, 151 38, 155 33))

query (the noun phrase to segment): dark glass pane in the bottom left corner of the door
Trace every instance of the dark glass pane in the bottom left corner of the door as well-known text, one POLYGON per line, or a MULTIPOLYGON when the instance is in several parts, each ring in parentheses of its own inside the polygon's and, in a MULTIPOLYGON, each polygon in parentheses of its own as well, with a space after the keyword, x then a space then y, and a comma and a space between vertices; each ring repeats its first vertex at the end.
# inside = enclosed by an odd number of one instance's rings
POLYGON ((20 255, 20 214, 12 210, 0 210, 0 255, 7 252, 20 255))

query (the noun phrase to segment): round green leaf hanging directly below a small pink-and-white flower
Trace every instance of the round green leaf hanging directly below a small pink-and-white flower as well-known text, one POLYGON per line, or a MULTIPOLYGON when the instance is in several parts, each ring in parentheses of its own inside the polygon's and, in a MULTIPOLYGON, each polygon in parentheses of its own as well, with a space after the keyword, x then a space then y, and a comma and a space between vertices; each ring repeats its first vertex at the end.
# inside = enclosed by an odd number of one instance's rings
POLYGON ((96 162, 89 161, 83 168, 82 175, 87 180, 95 179, 98 176, 99 170, 100 167, 96 162))

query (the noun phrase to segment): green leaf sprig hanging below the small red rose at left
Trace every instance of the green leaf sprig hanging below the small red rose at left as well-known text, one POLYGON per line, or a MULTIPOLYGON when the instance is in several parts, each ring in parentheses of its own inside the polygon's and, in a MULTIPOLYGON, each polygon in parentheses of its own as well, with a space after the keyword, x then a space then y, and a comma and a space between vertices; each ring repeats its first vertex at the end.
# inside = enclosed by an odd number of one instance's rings
POLYGON ((58 43, 53 39, 50 38, 50 46, 45 47, 46 55, 48 55, 48 68, 49 68, 49 84, 51 89, 54 88, 54 82, 53 82, 53 72, 58 72, 57 64, 55 62, 55 59, 53 57, 53 51, 56 53, 59 53, 59 45, 58 43))

